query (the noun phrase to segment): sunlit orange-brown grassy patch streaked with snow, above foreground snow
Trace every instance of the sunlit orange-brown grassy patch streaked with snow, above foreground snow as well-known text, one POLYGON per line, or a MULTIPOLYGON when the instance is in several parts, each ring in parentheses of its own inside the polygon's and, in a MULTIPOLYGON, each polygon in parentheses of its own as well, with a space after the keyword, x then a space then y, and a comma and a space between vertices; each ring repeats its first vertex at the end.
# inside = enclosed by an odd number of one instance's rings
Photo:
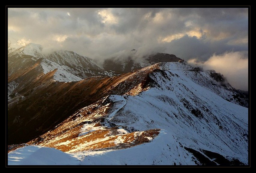
MULTIPOLYGON (((80 126, 79 126, 80 127, 80 126)), ((99 127, 99 126, 97 126, 99 127)), ((84 136, 74 134, 76 129, 70 130, 69 135, 63 133, 62 136, 45 138, 36 145, 53 147, 64 152, 76 152, 95 149, 122 149, 150 142, 148 138, 154 139, 160 129, 146 130, 142 132, 132 132, 120 134, 118 128, 105 128, 87 133, 84 136), (63 138, 62 138, 63 137, 63 138), (119 138, 120 140, 117 140, 119 138)), ((33 144, 33 141, 29 142, 33 144)))

